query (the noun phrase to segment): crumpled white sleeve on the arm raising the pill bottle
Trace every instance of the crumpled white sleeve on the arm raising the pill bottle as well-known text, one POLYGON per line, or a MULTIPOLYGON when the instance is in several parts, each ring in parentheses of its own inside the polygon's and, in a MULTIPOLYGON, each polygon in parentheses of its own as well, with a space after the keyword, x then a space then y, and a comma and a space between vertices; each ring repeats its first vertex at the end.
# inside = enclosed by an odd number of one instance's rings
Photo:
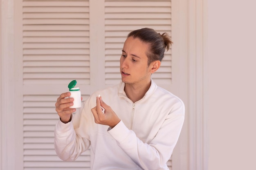
MULTIPOLYGON (((84 110, 84 109, 83 109, 84 110)), ((72 121, 64 124, 60 120, 56 123, 54 130, 54 148, 56 154, 63 161, 74 161, 90 147, 89 139, 81 137, 79 132, 76 132, 73 124, 81 117, 80 113, 75 113, 72 121), (77 114, 77 115, 76 115, 77 114)))

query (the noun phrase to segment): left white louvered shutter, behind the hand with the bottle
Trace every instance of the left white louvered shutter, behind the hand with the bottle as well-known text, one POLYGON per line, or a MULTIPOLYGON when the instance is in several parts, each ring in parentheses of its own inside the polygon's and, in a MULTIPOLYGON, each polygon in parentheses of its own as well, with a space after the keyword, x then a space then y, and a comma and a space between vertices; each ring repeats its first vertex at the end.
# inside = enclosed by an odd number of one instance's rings
POLYGON ((89 170, 90 150, 64 162, 53 144, 57 97, 73 79, 90 84, 89 0, 23 0, 22 7, 24 170, 89 170))

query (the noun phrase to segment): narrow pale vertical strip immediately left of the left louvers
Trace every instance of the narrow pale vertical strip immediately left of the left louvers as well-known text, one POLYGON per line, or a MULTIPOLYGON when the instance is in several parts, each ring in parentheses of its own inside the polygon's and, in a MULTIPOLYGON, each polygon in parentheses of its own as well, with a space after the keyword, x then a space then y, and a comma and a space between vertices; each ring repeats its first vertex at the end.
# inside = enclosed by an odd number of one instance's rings
POLYGON ((24 169, 24 131, 23 131, 23 29, 22 26, 22 0, 14 1, 14 53, 13 53, 13 67, 14 67, 14 102, 15 102, 15 170, 24 169))

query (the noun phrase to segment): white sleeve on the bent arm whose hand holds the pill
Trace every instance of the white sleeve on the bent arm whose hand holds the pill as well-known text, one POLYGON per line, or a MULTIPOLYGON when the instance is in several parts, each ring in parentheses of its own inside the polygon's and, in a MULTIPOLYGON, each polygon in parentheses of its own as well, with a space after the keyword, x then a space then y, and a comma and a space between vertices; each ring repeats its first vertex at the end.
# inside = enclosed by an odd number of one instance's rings
POLYGON ((149 144, 137 138, 135 132, 129 130, 122 121, 108 132, 141 169, 166 169, 166 162, 170 159, 180 136, 184 112, 183 102, 176 104, 149 144))

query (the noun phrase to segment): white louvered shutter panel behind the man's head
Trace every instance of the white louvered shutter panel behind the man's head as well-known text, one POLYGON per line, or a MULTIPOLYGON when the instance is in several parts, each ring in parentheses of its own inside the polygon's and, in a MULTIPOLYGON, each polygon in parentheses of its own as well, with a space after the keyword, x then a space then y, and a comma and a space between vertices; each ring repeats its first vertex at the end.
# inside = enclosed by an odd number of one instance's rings
MULTIPOLYGON (((128 33, 135 29, 149 27, 159 33, 171 35, 170 0, 106 0, 106 84, 120 81, 119 59, 128 33)), ((157 84, 171 84, 171 50, 159 70, 152 75, 157 84)))

